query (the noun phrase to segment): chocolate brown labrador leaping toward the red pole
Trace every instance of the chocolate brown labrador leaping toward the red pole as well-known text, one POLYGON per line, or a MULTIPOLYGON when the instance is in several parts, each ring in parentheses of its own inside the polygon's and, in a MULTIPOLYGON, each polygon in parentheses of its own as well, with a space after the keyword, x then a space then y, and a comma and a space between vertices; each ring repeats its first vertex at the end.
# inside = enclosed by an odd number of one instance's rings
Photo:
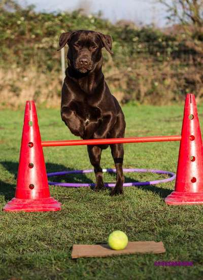
MULTIPOLYGON (((59 49, 69 45, 68 67, 61 91, 61 118, 74 135, 83 139, 124 137, 125 119, 101 71, 103 47, 112 52, 112 39, 100 32, 64 32, 59 49)), ((87 146, 96 177, 95 190, 104 189, 101 151, 109 145, 87 146)), ((116 166, 116 186, 111 195, 123 193, 123 144, 110 145, 116 166)))

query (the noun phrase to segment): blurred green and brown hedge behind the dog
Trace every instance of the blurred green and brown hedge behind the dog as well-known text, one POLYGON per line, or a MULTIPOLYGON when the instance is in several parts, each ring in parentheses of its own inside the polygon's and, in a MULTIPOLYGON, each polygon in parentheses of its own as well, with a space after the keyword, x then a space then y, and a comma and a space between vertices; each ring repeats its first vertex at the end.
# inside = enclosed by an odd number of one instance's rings
MULTIPOLYGON (((111 34, 114 57, 112 59, 104 52, 104 72, 120 101, 133 99, 140 103, 170 103, 183 99, 190 90, 199 97, 203 95, 202 49, 194 48, 185 39, 184 33, 112 24, 96 15, 84 15, 80 10, 37 13, 33 6, 22 8, 12 0, 7 2, 12 9, 8 5, 0 6, 0 67, 3 69, 0 86, 4 88, 4 99, 8 98, 8 83, 16 83, 18 90, 14 90, 14 94, 16 98, 21 97, 19 100, 24 100, 23 86, 29 83, 35 87, 32 82, 40 75, 41 84, 32 90, 32 97, 35 96, 39 102, 46 99, 49 95, 47 80, 51 77, 53 87, 49 90, 59 98, 61 68, 60 53, 56 51, 58 38, 61 32, 75 29, 111 34), (33 75, 26 81, 30 71, 33 75), (18 73, 17 77, 13 72, 18 73), (192 77, 188 75, 190 72, 192 77), (12 81, 8 82, 8 77, 12 81)), ((11 100, 7 101, 15 99, 11 100)), ((5 104, 5 100, 3 102, 5 104)))

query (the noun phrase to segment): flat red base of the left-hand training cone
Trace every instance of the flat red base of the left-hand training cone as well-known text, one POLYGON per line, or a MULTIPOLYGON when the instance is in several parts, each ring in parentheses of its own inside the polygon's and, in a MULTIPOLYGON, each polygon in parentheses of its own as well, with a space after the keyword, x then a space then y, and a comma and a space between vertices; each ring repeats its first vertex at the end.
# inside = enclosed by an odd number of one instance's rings
POLYGON ((46 211, 59 211, 61 203, 53 197, 41 199, 11 199, 3 208, 4 211, 9 212, 46 212, 46 211))

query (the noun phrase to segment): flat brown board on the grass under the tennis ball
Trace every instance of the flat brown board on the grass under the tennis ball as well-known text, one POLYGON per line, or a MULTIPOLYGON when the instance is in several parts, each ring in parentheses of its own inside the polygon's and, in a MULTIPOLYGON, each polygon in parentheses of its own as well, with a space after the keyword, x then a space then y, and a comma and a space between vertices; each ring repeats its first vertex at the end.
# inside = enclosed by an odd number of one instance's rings
POLYGON ((112 250, 108 244, 74 244, 72 250, 72 259, 89 258, 89 257, 107 257, 114 255, 128 255, 136 253, 165 253, 163 242, 155 241, 134 241, 128 242, 124 250, 112 250))

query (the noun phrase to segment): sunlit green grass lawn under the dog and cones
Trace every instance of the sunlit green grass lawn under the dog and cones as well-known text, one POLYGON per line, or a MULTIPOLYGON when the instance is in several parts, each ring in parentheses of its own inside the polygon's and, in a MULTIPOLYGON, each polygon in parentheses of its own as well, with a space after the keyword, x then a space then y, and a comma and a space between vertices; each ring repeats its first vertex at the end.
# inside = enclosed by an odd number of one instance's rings
MULTIPOLYGON (((125 136, 180 134, 183 106, 125 106, 125 136)), ((202 108, 199 108, 199 112, 202 108)), ((0 203, 15 195, 22 111, 0 112, 0 203)), ((43 140, 76 139, 60 120, 59 110, 39 109, 43 140)), ((200 120, 202 116, 200 114, 200 120)), ((202 122, 201 122, 202 123, 202 122)), ((124 167, 176 172, 178 142, 126 144, 124 167)), ((86 147, 44 148, 47 171, 91 168, 86 147)), ((110 150, 103 151, 103 168, 114 167, 110 150)), ((105 174, 106 182, 115 176, 105 174)), ((126 182, 162 178, 150 173, 127 173, 126 182)), ((94 174, 59 178, 94 182, 94 174)), ((53 178, 54 180, 54 178, 53 178)), ((163 198, 175 182, 125 188, 124 196, 89 188, 50 187, 62 203, 56 213, 5 213, 0 219, 0 279, 200 279, 202 278, 202 206, 168 206, 163 198), (113 230, 129 240, 163 241, 166 253, 111 258, 71 259, 74 243, 106 242, 113 230), (193 261, 193 267, 156 267, 155 261, 193 261)))

